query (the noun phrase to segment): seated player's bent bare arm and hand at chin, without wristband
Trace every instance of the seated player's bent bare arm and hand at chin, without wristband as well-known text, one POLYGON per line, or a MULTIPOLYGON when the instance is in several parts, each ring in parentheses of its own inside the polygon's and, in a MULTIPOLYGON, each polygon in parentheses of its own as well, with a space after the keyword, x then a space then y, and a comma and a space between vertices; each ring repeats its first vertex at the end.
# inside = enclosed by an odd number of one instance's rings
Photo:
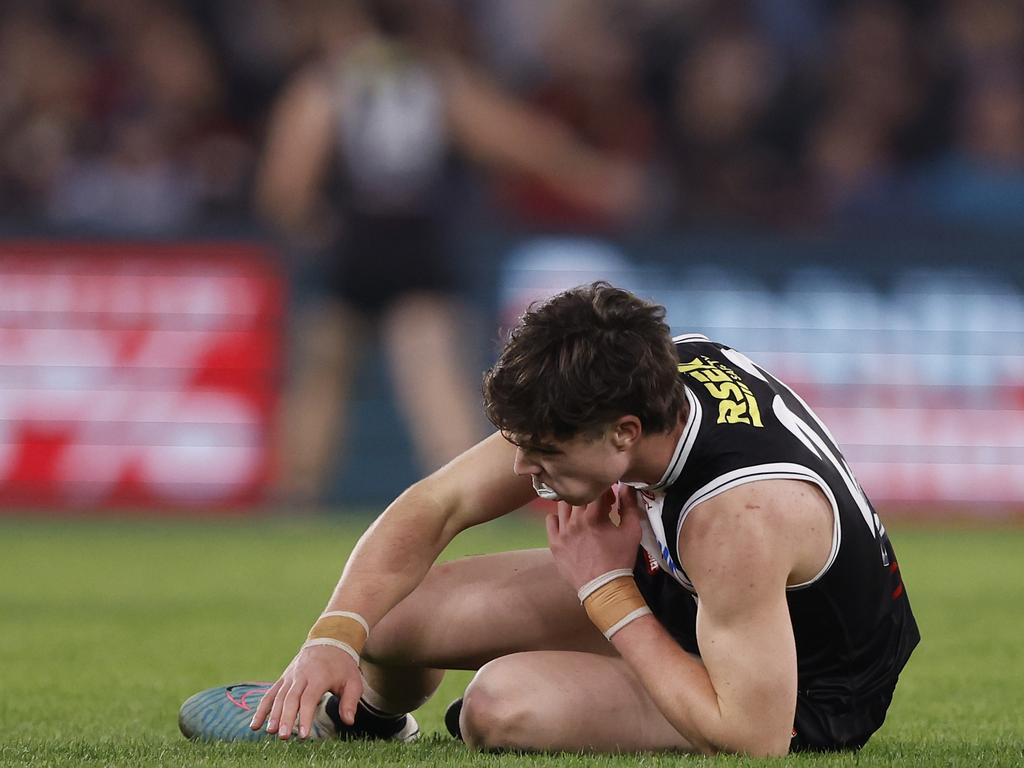
MULTIPOLYGON (((790 485, 804 483, 740 486, 695 508, 684 525, 680 548, 700 594, 702 660, 684 651, 651 615, 611 638, 662 713, 701 752, 784 755, 790 746, 797 658, 785 586, 820 567, 830 536, 826 524, 810 541, 794 536, 786 521, 803 516, 801 511, 777 505, 805 499, 812 507, 806 514, 825 521, 827 509, 814 509, 823 499, 790 485)), ((562 504, 549 516, 552 550, 577 588, 632 564, 642 514, 634 493, 620 493, 617 528, 608 520, 609 508, 604 498, 586 508, 562 504)))

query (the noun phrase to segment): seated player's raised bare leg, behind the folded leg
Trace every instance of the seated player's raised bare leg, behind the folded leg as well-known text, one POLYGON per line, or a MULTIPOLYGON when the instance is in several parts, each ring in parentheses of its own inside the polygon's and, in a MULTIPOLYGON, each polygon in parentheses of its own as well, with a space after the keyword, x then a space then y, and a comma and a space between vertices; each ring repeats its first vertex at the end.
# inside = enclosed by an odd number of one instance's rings
POLYGON ((614 653, 546 549, 435 565, 370 633, 364 673, 378 696, 371 703, 408 712, 434 691, 439 670, 474 670, 524 650, 614 653))

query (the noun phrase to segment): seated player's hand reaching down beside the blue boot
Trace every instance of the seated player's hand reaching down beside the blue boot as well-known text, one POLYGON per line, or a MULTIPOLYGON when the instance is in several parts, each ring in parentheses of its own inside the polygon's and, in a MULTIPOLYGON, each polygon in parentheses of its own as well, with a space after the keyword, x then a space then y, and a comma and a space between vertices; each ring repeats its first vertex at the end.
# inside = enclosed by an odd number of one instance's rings
POLYGON ((355 720, 355 706, 362 695, 362 676, 355 660, 343 650, 327 645, 303 648, 256 708, 250 727, 259 730, 264 721, 268 733, 290 738, 296 718, 300 738, 309 735, 321 699, 328 691, 341 699, 343 722, 355 720))

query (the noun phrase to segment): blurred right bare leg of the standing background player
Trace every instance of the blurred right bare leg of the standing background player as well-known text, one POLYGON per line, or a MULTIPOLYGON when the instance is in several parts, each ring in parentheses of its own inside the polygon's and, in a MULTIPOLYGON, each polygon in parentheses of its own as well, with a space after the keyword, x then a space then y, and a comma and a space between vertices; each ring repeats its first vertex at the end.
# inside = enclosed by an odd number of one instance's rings
POLYGON ((417 454, 432 471, 482 436, 479 387, 469 374, 457 309, 439 295, 410 294, 390 308, 383 330, 417 454))

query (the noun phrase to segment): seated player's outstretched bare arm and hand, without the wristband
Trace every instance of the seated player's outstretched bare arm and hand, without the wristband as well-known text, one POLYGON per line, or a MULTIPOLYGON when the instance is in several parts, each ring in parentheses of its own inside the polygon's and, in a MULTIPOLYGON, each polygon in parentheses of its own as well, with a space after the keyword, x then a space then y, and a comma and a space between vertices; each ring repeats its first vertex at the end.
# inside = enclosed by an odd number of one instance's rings
MULTIPOLYGON (((522 507, 536 495, 529 478, 512 472, 515 447, 492 435, 396 499, 359 539, 328 612, 354 613, 367 629, 409 595, 457 534, 522 507)), ((355 655, 336 645, 304 647, 267 692, 253 717, 282 738, 283 723, 298 717, 300 737, 309 732, 327 691, 340 698, 342 719, 351 724, 362 683, 355 655)))

